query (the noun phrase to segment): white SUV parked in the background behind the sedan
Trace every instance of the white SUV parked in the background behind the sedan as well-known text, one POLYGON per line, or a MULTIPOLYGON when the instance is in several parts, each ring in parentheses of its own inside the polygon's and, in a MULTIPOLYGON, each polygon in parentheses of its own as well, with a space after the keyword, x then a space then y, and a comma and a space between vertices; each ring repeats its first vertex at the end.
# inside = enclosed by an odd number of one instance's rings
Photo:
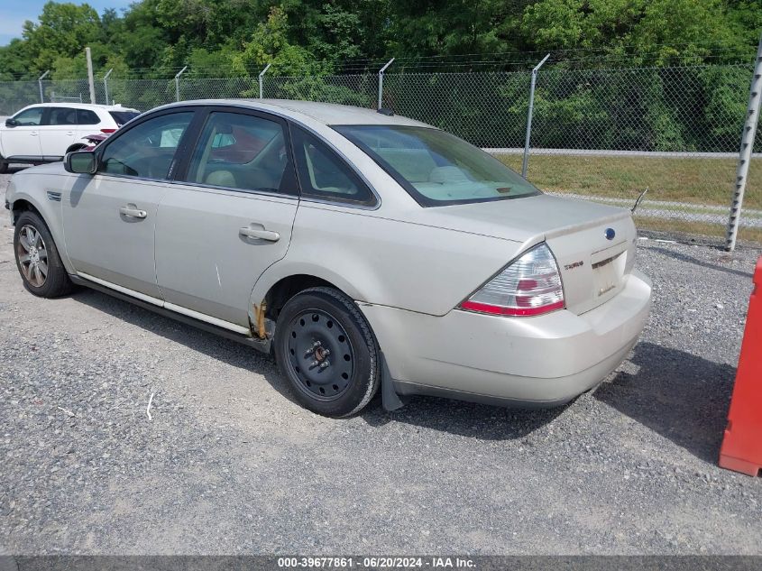
POLYGON ((24 107, 0 124, 0 172, 12 162, 54 162, 87 146, 83 137, 114 133, 140 115, 123 106, 41 103, 24 107))

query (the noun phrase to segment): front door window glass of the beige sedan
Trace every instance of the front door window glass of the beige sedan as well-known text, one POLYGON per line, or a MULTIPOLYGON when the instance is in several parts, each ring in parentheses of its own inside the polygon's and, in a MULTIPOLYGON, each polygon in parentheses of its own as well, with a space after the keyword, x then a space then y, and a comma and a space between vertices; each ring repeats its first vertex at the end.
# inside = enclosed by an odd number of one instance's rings
POLYGON ((192 112, 149 119, 115 135, 101 155, 99 172, 146 179, 165 179, 192 112))

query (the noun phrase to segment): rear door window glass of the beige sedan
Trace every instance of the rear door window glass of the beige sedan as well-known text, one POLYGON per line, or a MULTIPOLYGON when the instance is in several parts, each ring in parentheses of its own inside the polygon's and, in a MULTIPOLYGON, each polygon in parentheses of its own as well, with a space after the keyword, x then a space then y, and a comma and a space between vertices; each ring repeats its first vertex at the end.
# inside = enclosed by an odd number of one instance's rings
POLYGON ((289 162, 283 127, 254 115, 209 114, 188 167, 188 182, 280 191, 289 162))

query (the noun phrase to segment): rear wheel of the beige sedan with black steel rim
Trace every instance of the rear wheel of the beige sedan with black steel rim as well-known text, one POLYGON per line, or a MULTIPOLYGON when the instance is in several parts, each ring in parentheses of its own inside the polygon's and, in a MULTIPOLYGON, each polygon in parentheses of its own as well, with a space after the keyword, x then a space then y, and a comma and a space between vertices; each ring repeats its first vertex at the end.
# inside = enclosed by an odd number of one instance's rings
POLYGON ((289 299, 275 329, 275 358, 296 400, 342 418, 362 410, 379 388, 379 350, 353 300, 333 288, 289 299))

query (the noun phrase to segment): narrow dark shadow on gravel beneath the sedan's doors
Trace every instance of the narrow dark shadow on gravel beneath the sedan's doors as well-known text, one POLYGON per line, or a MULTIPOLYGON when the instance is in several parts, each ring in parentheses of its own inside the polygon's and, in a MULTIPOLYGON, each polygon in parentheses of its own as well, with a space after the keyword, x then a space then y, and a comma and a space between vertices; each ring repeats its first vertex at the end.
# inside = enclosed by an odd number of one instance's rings
POLYGON ((275 391, 278 391, 285 399, 296 402, 286 382, 280 377, 275 360, 252 347, 185 325, 174 319, 165 318, 149 309, 113 298, 100 291, 80 288, 71 294, 71 298, 133 326, 185 345, 198 353, 234 367, 261 374, 275 391))

